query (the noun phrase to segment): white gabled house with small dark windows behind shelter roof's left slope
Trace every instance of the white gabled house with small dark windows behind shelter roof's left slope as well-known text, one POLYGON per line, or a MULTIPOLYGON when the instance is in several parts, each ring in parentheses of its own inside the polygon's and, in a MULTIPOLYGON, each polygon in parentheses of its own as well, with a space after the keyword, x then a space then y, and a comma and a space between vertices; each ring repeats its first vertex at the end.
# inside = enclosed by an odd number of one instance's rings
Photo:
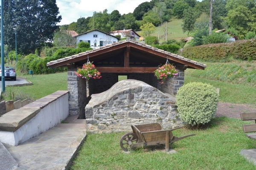
POLYGON ((76 37, 77 43, 81 41, 89 42, 91 48, 112 44, 113 42, 117 42, 118 40, 120 40, 120 38, 115 37, 111 34, 108 34, 104 31, 100 31, 98 29, 84 32, 75 37, 76 37))

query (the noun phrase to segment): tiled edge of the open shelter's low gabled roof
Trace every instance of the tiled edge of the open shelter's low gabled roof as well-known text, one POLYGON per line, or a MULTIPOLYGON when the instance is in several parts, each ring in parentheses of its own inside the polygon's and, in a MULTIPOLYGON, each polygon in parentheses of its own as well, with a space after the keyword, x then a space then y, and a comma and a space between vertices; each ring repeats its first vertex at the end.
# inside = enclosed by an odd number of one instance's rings
POLYGON ((70 57, 65 57, 65 58, 62 58, 62 59, 58 59, 58 60, 54 60, 54 61, 50 61, 50 62, 47 62, 47 66, 50 66, 50 65, 55 65, 57 63, 61 63, 61 62, 66 62, 68 60, 71 60, 71 59, 75 59, 75 58, 79 58, 81 56, 87 56, 89 54, 92 54, 94 52, 97 52, 97 51, 101 51, 101 50, 104 50, 104 49, 107 49, 107 48, 111 48, 113 46, 116 46, 116 45, 120 45, 120 44, 124 44, 124 43, 133 43, 133 44, 136 44, 136 45, 140 45, 144 48, 148 48, 148 49, 151 49, 153 51, 157 51, 157 52, 160 52, 162 54, 166 54, 166 55, 169 55, 171 57, 174 57, 174 58, 177 58, 179 60, 182 60, 182 61, 186 61, 186 62, 189 62, 189 63, 192 63, 192 64, 195 64, 195 65, 198 65, 200 67, 203 67, 203 68, 206 68, 206 65, 201 63, 201 62, 197 62, 197 61, 194 61, 194 60, 191 60, 191 59, 188 59, 188 58, 185 58, 185 57, 182 57, 182 56, 179 56, 177 54, 173 54, 171 52, 168 52, 168 51, 164 51, 164 50, 161 50, 161 49, 158 49, 156 47, 152 47, 150 45, 146 45, 146 44, 142 44, 138 41, 134 41, 134 40, 122 40, 122 41, 119 41, 119 42, 114 42, 112 44, 108 44, 108 45, 105 45, 105 46, 102 46, 102 47, 99 47, 99 48, 94 48, 93 50, 89 50, 89 51, 85 51, 85 52, 82 52, 82 53, 79 53, 79 54, 76 54, 76 55, 73 55, 73 56, 70 56, 70 57))

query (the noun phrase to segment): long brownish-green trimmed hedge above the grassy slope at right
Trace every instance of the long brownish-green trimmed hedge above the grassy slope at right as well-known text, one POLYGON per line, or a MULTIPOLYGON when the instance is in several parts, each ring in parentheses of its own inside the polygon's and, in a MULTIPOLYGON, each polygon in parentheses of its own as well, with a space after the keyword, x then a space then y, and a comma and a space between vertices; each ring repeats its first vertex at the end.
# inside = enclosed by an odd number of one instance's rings
POLYGON ((180 55, 208 61, 225 61, 229 58, 256 60, 256 39, 188 47, 180 55))

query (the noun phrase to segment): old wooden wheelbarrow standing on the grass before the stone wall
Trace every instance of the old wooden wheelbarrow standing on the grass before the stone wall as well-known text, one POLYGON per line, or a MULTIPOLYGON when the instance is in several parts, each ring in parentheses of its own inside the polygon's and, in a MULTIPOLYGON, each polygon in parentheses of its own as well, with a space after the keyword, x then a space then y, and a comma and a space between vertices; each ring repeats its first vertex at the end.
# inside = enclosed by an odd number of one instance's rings
POLYGON ((177 142, 195 134, 176 137, 172 131, 182 127, 176 127, 170 130, 163 130, 159 123, 150 123, 144 125, 131 125, 133 133, 126 133, 120 139, 122 150, 129 151, 136 147, 166 144, 166 152, 169 152, 169 143, 177 142))

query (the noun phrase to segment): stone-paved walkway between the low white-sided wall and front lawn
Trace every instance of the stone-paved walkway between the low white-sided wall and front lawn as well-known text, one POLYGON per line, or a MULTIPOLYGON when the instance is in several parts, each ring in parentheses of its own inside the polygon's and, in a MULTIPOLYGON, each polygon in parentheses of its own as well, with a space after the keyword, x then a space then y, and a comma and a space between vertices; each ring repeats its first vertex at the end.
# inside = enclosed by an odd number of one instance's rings
MULTIPOLYGON (((85 119, 68 116, 46 132, 18 145, 4 144, 19 164, 15 170, 68 170, 86 136, 85 119)), ((0 168, 1 169, 1 168, 0 168)))

